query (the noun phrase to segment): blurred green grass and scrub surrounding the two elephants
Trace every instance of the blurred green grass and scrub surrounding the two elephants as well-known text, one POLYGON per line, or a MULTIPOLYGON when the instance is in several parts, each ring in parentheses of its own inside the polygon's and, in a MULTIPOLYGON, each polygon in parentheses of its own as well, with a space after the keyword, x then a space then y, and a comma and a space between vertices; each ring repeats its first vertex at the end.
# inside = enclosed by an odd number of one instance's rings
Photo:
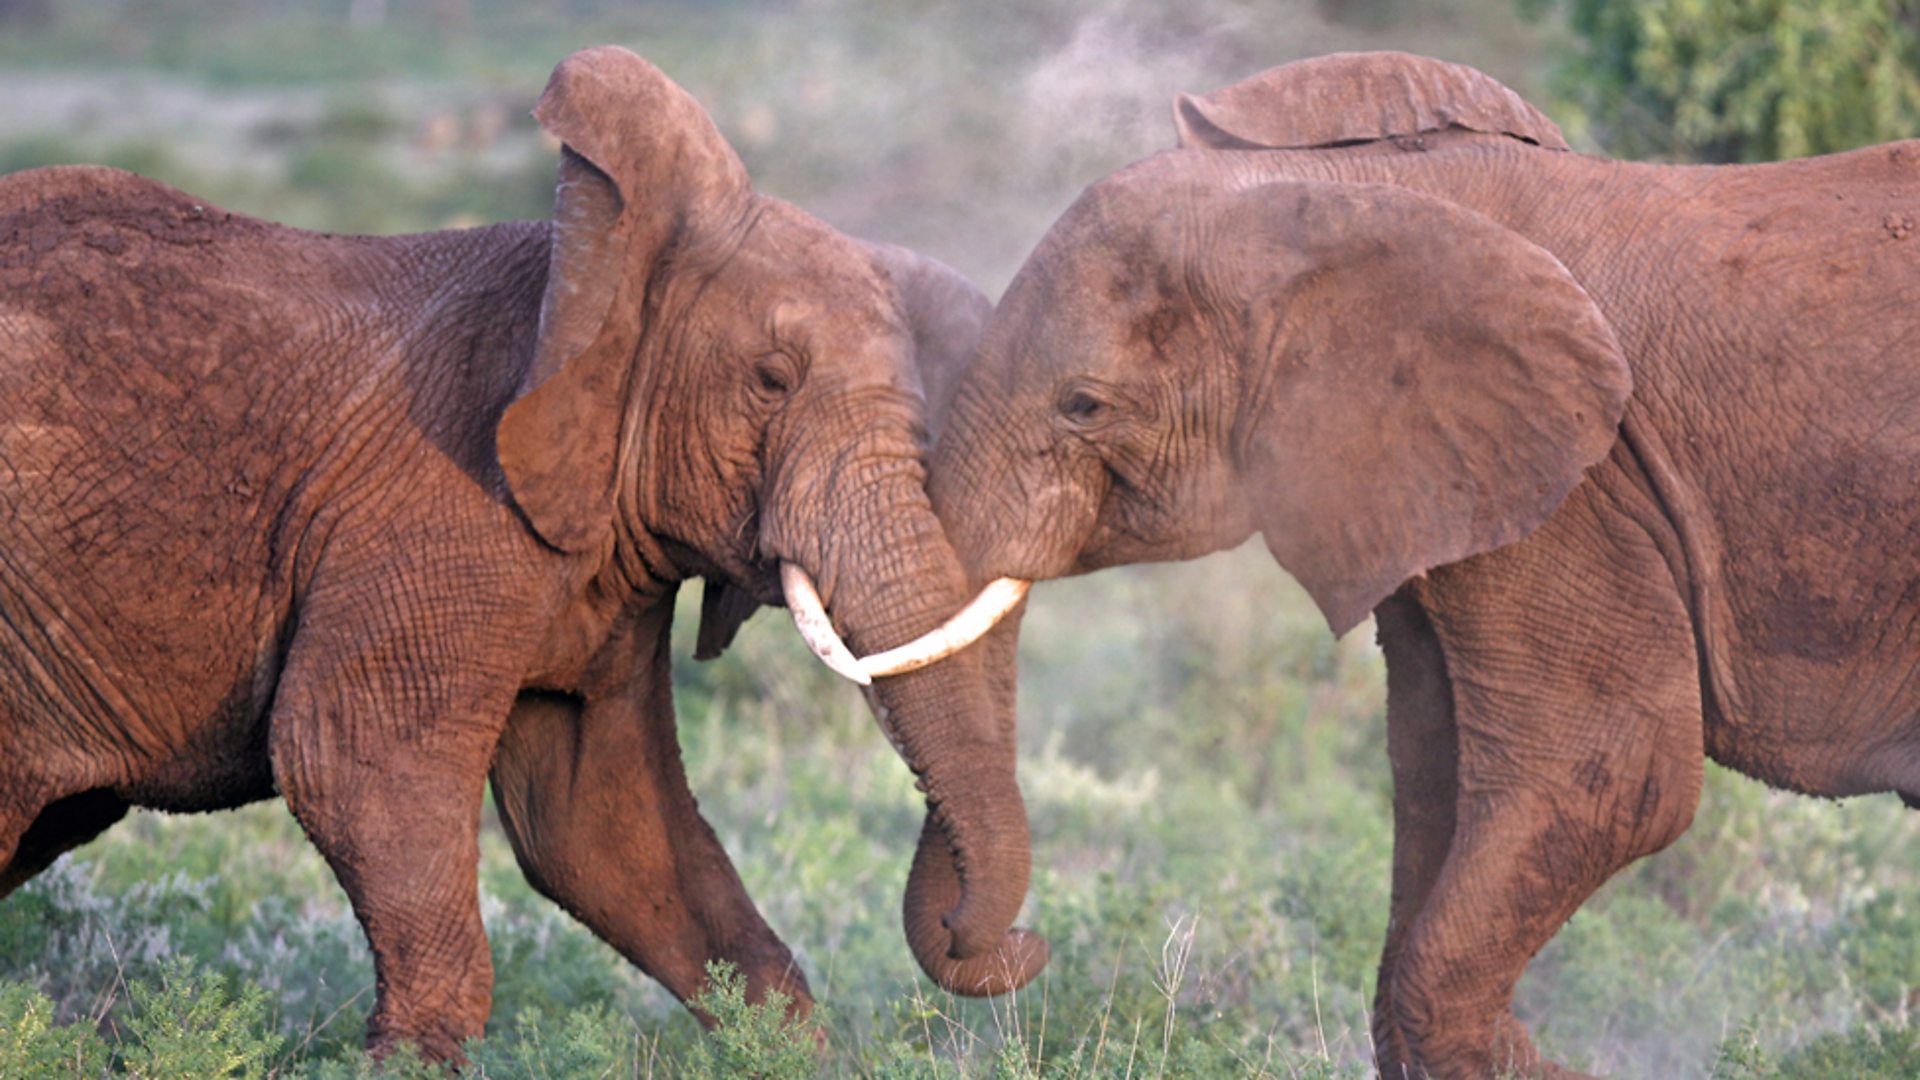
MULTIPOLYGON (((1175 92, 1321 52, 1478 65, 1590 152, 1920 135, 1912 0, 0 0, 0 171, 104 161, 328 231, 541 217, 553 146, 526 110, 601 42, 707 104, 762 190, 989 294, 1081 186, 1171 144, 1175 92)), ((1054 963, 996 1003, 933 994, 906 955, 920 801, 858 696, 776 615, 708 665, 684 630, 689 773, 829 1005, 828 1074, 1367 1072, 1380 659, 1365 628, 1334 642, 1261 550, 1035 592, 1027 920, 1054 963)), ((1711 771, 1693 830, 1588 903, 1517 1007, 1588 1070, 1920 1074, 1916 842, 1893 798, 1711 771)), ((492 821, 484 851, 488 1076, 814 1072, 726 1003, 745 1034, 703 1040, 528 890, 492 821)), ((0 1076, 367 1074, 371 984, 282 807, 136 815, 0 903, 0 1076)))

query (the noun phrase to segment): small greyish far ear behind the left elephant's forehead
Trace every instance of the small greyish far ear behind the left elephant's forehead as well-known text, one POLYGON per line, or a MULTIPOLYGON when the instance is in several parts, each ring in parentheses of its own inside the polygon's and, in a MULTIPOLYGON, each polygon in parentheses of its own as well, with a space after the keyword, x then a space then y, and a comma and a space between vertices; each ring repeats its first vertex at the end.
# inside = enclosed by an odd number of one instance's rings
POLYGON ((900 294, 902 313, 914 331, 914 369, 920 398, 927 404, 927 438, 939 440, 960 375, 993 315, 993 302, 939 259, 895 244, 868 244, 868 250, 900 294))

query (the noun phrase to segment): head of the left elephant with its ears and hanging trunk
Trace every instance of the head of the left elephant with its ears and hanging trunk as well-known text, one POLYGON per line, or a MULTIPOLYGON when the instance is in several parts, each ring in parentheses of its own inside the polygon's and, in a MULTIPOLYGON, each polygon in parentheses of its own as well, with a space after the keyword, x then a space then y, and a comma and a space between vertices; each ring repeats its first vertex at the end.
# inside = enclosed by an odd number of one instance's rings
MULTIPOLYGON (((705 110, 632 52, 568 58, 536 117, 564 148, 534 352, 493 432, 513 503, 641 592, 707 577, 707 655, 785 598, 843 671, 914 667, 851 650, 918 638, 966 600, 924 492, 916 356, 964 352, 985 300, 756 194, 705 110)), ((1027 826, 973 665, 889 676, 874 705, 929 807, 914 955, 950 990, 996 994, 1046 949, 1008 930, 1027 826)))

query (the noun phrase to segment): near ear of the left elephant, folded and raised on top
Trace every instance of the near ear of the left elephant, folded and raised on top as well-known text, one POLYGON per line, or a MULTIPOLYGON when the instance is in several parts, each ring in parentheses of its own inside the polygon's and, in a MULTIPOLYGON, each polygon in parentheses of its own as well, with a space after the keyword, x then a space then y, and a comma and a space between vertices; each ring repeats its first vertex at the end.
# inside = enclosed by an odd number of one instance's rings
POLYGON ((563 60, 534 117, 563 142, 547 284, 534 356, 493 442, 534 530, 584 552, 612 525, 649 277, 685 233, 753 188, 699 102, 624 48, 563 60))

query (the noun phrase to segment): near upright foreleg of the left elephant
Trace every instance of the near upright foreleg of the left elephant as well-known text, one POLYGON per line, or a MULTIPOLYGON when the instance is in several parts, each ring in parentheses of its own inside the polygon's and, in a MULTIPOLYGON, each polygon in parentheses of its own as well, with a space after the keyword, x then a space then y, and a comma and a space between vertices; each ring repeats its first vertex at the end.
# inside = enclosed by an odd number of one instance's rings
POLYGON ((484 1032, 493 997, 480 805, 516 690, 476 657, 509 655, 532 634, 507 611, 451 600, 461 592, 445 582, 409 596, 434 611, 324 590, 309 598, 269 751, 280 794, 372 949, 369 1047, 384 1055, 411 1042, 457 1061, 461 1043, 484 1032))

